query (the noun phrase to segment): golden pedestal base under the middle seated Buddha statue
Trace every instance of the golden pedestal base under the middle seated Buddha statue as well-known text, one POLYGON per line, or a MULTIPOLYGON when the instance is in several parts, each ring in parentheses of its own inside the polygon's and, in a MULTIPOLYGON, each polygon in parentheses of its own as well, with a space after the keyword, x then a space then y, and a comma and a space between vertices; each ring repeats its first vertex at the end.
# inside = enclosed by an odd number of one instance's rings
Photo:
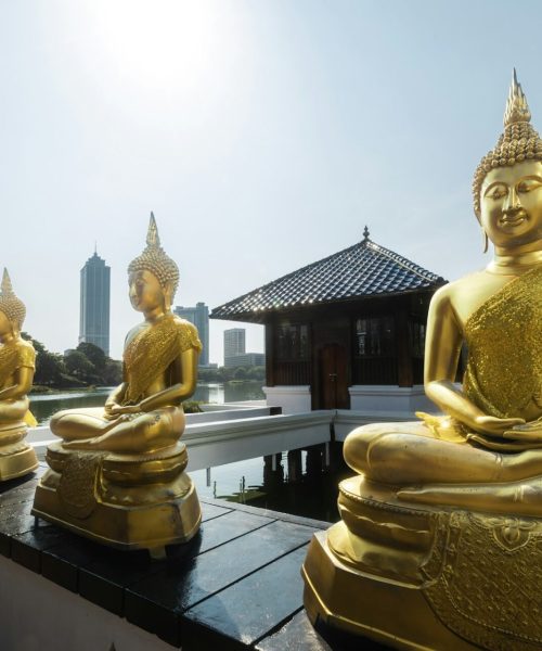
POLYGON ((48 448, 33 514, 119 549, 186 542, 202 520, 183 444, 146 455, 48 448))

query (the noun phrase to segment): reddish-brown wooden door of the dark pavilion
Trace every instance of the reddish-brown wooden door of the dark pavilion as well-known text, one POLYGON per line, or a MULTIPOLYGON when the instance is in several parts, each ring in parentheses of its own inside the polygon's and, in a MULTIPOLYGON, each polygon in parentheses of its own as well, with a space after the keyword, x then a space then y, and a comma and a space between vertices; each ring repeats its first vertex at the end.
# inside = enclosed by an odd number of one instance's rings
POLYGON ((347 352, 339 344, 327 344, 319 355, 319 409, 349 409, 347 352))

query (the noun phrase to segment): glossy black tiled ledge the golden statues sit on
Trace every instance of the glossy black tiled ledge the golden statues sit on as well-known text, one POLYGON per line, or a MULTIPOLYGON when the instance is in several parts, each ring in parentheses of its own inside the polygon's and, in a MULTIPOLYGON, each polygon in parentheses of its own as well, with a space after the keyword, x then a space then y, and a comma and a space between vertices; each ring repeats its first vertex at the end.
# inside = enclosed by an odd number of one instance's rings
POLYGON ((0 553, 14 562, 183 651, 348 648, 324 640, 302 610, 300 566, 312 533, 327 523, 202 500, 198 535, 153 562, 146 551, 119 552, 36 522, 43 471, 0 485, 0 553))

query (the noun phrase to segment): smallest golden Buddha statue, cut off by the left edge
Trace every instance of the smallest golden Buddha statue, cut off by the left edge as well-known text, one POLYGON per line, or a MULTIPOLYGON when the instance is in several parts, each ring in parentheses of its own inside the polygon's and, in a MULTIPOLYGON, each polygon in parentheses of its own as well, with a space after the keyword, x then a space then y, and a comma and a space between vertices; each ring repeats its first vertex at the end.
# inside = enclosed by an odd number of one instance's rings
POLYGON ((24 303, 15 296, 8 269, 0 292, 0 481, 13 480, 38 468, 34 448, 25 441, 36 425, 27 397, 34 380, 36 352, 21 336, 24 303))

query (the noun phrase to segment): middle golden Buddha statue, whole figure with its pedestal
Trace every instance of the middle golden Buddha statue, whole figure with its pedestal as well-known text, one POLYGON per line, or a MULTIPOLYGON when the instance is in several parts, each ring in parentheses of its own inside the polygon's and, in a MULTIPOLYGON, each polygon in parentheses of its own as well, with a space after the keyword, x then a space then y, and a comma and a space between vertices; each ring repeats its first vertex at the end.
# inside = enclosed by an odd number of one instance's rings
POLYGON ((171 312, 179 269, 160 246, 154 215, 146 248, 128 267, 129 295, 144 321, 128 333, 124 382, 103 408, 51 419, 34 513, 101 542, 163 556, 201 521, 190 477, 182 401, 195 391, 202 350, 195 327, 171 312))

